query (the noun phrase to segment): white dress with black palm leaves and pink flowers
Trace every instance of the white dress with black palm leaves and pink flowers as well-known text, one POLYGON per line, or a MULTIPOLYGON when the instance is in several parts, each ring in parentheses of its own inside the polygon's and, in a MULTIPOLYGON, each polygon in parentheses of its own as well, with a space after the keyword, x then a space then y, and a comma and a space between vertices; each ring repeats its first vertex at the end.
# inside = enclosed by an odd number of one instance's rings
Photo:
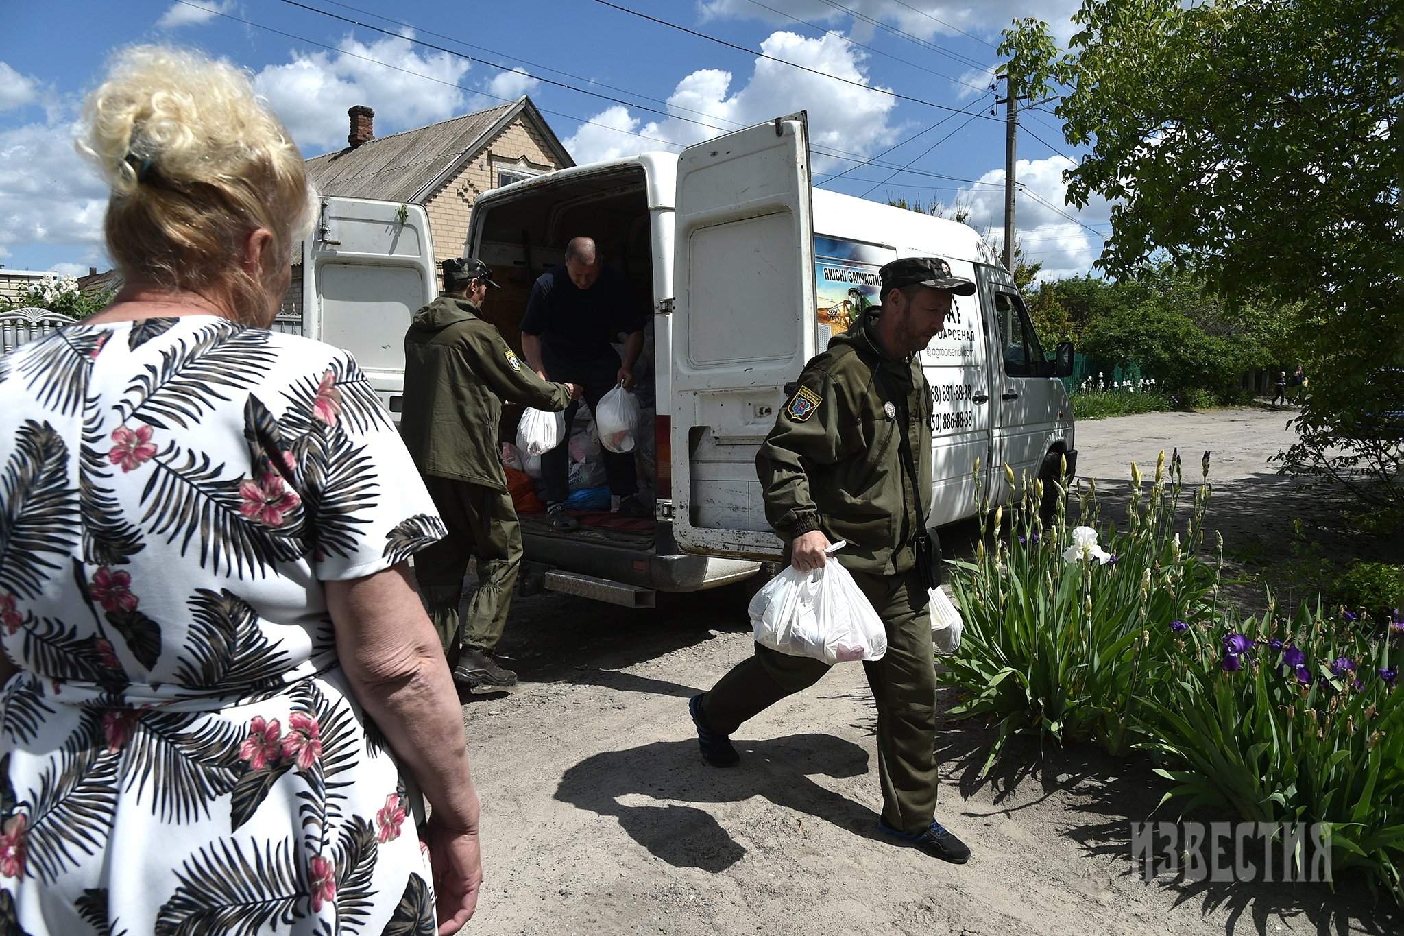
POLYGON ((213 316, 0 358, 0 933, 432 933, 324 581, 444 536, 355 361, 213 316))

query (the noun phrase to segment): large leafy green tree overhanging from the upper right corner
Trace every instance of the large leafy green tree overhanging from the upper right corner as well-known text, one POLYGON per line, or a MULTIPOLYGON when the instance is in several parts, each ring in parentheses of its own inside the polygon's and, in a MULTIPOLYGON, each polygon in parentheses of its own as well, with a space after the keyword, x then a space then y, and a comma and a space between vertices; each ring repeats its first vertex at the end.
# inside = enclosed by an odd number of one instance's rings
POLYGON ((1289 316, 1311 377, 1285 453, 1404 509, 1404 7, 1379 0, 1084 0, 1070 52, 1007 32, 1011 67, 1070 90, 1056 112, 1091 153, 1068 198, 1113 202, 1098 267, 1163 255, 1227 303, 1289 316))

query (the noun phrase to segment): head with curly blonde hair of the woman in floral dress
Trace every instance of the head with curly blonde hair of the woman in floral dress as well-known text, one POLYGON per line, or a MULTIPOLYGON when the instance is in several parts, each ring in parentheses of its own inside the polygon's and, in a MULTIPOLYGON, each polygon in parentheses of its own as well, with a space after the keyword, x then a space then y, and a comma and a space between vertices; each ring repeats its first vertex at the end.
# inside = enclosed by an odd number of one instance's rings
POLYGON ((84 122, 77 147, 111 187, 104 234, 122 276, 222 293, 237 319, 268 324, 316 194, 298 145, 247 74, 198 52, 133 46, 88 95, 84 122), (260 227, 272 244, 250 275, 240 261, 260 227))

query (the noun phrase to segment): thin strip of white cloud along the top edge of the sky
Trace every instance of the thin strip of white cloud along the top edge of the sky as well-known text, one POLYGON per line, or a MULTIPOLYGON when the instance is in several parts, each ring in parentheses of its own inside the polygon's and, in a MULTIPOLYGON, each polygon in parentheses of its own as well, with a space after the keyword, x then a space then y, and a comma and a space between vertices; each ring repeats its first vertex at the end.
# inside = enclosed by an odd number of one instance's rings
MULTIPOLYGON (((765 0, 765 6, 778 10, 781 15, 764 10, 750 0, 702 0, 699 11, 703 21, 736 18, 788 25, 793 22, 789 17, 795 17, 819 25, 852 24, 855 38, 859 34, 873 34, 873 27, 862 18, 868 17, 920 39, 935 39, 942 46, 952 44, 941 39, 963 42, 966 36, 960 35, 960 31, 972 32, 998 45, 1000 31, 1008 27, 1012 20, 1022 17, 1045 20, 1053 35, 1060 42, 1067 42, 1067 38, 1073 35, 1073 13, 1078 8, 1080 0, 980 0, 967 3, 844 0, 842 6, 861 14, 858 17, 835 8, 826 0, 765 0), (908 7, 915 7, 915 10, 908 7)), ((994 55, 994 51, 987 46, 980 45, 979 49, 983 53, 969 48, 966 48, 966 53, 979 59, 994 55)))

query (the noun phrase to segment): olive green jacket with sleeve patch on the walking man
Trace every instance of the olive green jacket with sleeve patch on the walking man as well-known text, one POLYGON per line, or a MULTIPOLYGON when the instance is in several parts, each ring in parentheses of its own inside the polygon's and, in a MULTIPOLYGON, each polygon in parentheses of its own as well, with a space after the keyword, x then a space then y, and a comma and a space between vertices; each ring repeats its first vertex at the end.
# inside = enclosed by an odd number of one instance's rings
POLYGON ((892 575, 915 564, 913 539, 931 509, 931 390, 914 355, 892 361, 868 309, 807 365, 765 436, 755 469, 765 516, 789 542, 810 530, 847 540, 837 556, 855 571, 892 575), (890 407, 889 407, 890 404, 890 407), (901 456, 911 442, 917 488, 901 456))

